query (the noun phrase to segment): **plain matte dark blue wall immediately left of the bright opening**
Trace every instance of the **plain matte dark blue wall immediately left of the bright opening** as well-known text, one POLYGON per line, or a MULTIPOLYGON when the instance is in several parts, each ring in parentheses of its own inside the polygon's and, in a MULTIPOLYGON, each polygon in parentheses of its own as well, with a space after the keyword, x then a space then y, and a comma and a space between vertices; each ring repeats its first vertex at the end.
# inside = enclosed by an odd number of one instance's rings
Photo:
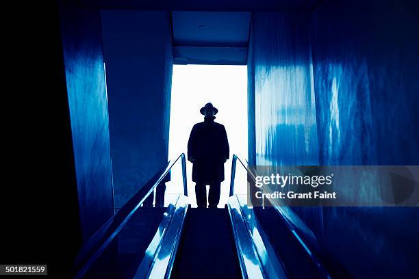
POLYGON ((102 11, 116 208, 167 162, 173 68, 168 12, 102 11))

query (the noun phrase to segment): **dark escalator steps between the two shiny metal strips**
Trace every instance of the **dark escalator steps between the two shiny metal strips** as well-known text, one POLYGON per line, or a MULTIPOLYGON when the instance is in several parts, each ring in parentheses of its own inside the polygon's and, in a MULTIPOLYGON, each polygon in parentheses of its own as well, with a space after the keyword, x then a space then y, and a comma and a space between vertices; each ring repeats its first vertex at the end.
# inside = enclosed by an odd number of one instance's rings
POLYGON ((242 278, 227 209, 188 209, 171 278, 242 278))

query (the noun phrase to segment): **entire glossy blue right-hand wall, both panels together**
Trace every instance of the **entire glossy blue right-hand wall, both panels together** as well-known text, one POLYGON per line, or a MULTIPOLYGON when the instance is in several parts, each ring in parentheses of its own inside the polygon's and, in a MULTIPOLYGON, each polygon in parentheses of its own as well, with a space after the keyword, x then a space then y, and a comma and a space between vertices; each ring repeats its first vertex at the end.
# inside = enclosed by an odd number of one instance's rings
MULTIPOLYGON (((418 164, 412 3, 323 1, 311 13, 253 14, 259 165, 418 164)), ((349 274, 418 277, 416 207, 294 212, 349 274)))

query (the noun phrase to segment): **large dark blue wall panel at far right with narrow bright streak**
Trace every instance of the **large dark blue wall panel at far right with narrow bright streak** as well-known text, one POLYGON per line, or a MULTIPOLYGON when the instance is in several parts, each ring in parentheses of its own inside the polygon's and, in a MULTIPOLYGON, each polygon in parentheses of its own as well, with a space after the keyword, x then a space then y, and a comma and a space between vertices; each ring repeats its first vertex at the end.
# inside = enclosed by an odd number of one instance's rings
MULTIPOLYGON (((321 164, 418 165, 419 16, 412 3, 324 1, 313 12, 321 164)), ((418 213, 324 208, 320 239, 357 276, 418 277, 418 213)))

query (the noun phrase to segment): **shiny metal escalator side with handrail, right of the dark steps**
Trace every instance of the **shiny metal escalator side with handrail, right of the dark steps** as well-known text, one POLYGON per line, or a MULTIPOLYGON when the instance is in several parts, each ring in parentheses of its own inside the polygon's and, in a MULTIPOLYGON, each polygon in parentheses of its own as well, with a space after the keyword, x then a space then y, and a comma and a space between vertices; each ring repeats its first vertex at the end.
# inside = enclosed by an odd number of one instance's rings
MULTIPOLYGON (((238 173, 255 181, 257 170, 247 161, 233 155, 231 193, 236 192, 238 173)), ((240 181, 240 184, 247 181, 240 181)), ((327 278, 329 272, 322 260, 316 237, 289 207, 248 207, 247 194, 236 194, 229 199, 229 208, 237 208, 251 237, 266 278, 301 278, 308 271, 314 278, 327 278), (260 220, 260 222, 259 222, 260 220), (308 240, 308 241, 307 241, 308 240), (285 241, 285 242, 284 242, 285 241), (287 271, 288 269, 288 271, 287 271)))

